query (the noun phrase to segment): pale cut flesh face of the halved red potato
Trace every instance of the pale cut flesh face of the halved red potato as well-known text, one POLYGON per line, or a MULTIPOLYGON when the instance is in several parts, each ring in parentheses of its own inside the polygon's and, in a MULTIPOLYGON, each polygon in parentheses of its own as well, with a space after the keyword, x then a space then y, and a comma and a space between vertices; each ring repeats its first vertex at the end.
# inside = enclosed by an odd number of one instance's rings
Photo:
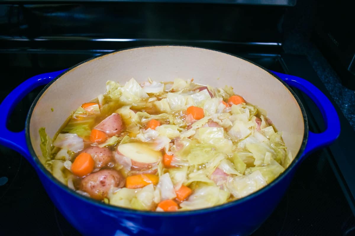
POLYGON ((143 143, 124 143, 119 145, 117 150, 135 162, 155 163, 162 159, 160 151, 154 151, 143 143))

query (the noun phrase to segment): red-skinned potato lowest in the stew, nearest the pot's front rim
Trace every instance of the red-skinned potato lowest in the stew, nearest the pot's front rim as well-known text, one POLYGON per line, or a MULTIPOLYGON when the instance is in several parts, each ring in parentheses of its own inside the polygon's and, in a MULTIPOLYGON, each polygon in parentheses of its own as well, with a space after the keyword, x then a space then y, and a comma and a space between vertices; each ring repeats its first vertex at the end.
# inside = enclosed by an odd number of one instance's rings
POLYGON ((125 178, 114 169, 102 169, 89 174, 81 180, 80 190, 87 192, 92 198, 103 200, 112 187, 122 188, 125 178))

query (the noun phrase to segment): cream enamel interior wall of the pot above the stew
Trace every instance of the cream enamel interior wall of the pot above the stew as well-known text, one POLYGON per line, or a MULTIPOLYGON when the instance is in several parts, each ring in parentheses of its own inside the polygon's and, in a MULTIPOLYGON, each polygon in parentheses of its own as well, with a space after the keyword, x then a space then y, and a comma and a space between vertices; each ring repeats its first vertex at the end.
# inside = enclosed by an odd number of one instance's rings
POLYGON ((68 71, 42 94, 30 120, 31 143, 42 155, 38 130, 45 127, 50 137, 58 131, 70 112, 80 104, 105 92, 107 80, 138 82, 148 77, 157 81, 194 79, 198 84, 224 87, 267 111, 293 157, 304 136, 301 109, 290 91, 275 77, 256 65, 229 54, 184 46, 133 48, 107 54, 68 71), (53 111, 51 110, 53 108, 53 111))

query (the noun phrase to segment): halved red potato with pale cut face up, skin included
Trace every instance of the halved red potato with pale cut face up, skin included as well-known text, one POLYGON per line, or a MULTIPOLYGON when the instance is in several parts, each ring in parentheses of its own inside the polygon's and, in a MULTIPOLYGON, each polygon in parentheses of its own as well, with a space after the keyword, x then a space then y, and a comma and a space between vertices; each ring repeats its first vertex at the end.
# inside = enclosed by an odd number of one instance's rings
POLYGON ((143 143, 125 143, 117 148, 117 152, 131 159, 131 169, 145 171, 157 168, 163 155, 160 151, 154 151, 149 145, 143 143))

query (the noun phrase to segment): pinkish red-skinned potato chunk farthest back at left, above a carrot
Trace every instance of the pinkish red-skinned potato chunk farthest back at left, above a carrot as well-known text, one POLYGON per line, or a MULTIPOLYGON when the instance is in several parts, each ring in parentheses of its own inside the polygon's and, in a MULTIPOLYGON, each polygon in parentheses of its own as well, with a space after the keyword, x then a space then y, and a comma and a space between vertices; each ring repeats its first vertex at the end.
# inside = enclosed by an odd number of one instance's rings
POLYGON ((95 129, 101 130, 106 133, 108 137, 112 137, 122 132, 123 124, 120 114, 113 113, 105 120, 101 121, 95 129))

